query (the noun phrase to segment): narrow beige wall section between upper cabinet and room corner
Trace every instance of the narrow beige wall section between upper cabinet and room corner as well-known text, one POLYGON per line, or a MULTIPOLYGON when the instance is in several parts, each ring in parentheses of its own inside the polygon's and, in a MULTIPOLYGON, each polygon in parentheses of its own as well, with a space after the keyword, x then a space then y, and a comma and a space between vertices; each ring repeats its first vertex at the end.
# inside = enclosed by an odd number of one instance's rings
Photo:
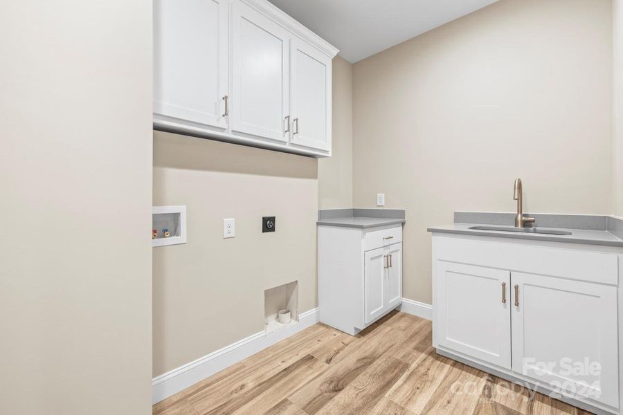
POLYGON ((352 208, 352 64, 333 59, 332 156, 318 160, 318 207, 352 208))

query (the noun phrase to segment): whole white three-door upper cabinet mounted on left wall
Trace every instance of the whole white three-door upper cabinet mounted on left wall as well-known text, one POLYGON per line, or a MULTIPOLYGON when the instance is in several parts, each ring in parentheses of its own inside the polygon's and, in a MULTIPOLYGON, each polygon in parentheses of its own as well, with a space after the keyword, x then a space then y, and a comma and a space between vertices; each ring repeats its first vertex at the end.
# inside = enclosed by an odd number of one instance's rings
POLYGON ((267 0, 154 0, 154 129, 331 156, 336 53, 267 0))

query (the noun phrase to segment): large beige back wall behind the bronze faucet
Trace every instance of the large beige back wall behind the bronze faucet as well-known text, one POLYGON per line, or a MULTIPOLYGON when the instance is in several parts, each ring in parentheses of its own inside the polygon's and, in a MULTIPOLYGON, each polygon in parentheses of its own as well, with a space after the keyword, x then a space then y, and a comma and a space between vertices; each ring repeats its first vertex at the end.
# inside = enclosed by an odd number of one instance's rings
POLYGON ((608 0, 502 0, 354 64, 353 203, 406 208, 404 296, 455 210, 610 213, 608 0))

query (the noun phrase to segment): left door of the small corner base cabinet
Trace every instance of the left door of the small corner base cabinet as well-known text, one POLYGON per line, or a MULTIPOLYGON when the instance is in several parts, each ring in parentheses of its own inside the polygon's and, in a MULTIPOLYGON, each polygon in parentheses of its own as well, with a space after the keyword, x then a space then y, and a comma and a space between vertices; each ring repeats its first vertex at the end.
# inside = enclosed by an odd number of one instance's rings
POLYGON ((383 315, 385 307, 386 255, 383 248, 365 252, 364 255, 364 312, 365 324, 383 315))

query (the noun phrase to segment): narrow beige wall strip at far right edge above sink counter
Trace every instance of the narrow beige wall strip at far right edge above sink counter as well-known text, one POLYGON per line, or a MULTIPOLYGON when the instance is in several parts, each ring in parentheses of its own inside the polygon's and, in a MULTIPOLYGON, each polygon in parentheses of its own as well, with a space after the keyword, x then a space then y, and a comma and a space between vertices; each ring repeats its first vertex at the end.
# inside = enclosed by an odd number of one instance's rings
POLYGON ((613 0, 614 214, 623 216, 623 0, 613 0))

